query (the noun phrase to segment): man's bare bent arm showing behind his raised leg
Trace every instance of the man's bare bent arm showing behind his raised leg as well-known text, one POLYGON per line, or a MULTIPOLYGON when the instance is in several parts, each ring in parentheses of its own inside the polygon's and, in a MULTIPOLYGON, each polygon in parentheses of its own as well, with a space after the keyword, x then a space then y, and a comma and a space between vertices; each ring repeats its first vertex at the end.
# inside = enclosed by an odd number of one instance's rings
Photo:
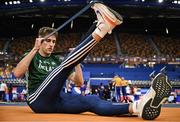
POLYGON ((75 72, 73 72, 68 79, 73 81, 77 86, 83 85, 84 79, 80 64, 75 67, 75 72))

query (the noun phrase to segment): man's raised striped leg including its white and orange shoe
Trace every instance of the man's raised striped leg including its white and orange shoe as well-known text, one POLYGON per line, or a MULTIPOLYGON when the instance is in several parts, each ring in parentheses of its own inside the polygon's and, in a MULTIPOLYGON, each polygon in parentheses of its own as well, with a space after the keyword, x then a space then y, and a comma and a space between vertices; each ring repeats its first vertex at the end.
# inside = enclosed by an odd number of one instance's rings
POLYGON ((97 28, 84 41, 78 45, 55 68, 28 98, 28 104, 35 112, 57 112, 55 103, 59 92, 68 78, 72 69, 82 62, 90 50, 112 29, 122 23, 122 17, 103 4, 96 3, 93 6, 98 18, 97 28))

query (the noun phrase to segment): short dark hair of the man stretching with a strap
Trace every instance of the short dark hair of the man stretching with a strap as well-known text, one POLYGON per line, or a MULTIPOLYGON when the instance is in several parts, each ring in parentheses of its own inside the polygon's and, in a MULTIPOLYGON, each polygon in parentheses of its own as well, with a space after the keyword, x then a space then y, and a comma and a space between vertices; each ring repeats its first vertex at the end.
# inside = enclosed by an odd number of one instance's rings
MULTIPOLYGON (((39 37, 45 37, 48 34, 52 33, 55 29, 54 28, 50 28, 50 27, 42 27, 39 29, 39 33, 38 36, 39 37)), ((56 38, 58 37, 58 32, 55 32, 53 35, 56 36, 56 38)))

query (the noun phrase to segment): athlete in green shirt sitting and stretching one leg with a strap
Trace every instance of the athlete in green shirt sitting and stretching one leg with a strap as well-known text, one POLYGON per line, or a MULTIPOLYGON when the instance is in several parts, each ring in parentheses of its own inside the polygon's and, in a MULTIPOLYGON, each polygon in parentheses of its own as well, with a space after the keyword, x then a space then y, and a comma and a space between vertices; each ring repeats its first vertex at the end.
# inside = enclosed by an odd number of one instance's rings
POLYGON ((78 114, 89 111, 102 116, 137 113, 144 119, 155 119, 160 114, 161 103, 169 96, 171 90, 164 74, 158 74, 153 79, 149 92, 133 104, 113 104, 97 96, 60 92, 67 79, 78 85, 83 84, 79 63, 107 33, 111 33, 113 28, 123 22, 117 12, 104 4, 95 3, 92 9, 97 15, 97 27, 63 61, 52 55, 58 34, 44 39, 54 29, 43 27, 39 30, 33 49, 17 64, 14 70, 16 77, 22 77, 26 72, 29 75, 29 107, 35 113, 78 114))

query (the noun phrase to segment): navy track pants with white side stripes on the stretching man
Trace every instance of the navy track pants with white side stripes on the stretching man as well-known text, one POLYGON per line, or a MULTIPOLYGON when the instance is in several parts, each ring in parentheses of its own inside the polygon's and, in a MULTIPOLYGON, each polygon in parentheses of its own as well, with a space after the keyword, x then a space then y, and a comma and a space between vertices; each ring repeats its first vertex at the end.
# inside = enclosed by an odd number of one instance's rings
POLYGON ((97 96, 60 94, 70 72, 85 59, 96 44, 97 41, 92 35, 86 36, 84 41, 48 74, 39 88, 28 97, 28 105, 34 112, 77 114, 89 111, 104 116, 129 113, 128 104, 114 105, 97 96))

